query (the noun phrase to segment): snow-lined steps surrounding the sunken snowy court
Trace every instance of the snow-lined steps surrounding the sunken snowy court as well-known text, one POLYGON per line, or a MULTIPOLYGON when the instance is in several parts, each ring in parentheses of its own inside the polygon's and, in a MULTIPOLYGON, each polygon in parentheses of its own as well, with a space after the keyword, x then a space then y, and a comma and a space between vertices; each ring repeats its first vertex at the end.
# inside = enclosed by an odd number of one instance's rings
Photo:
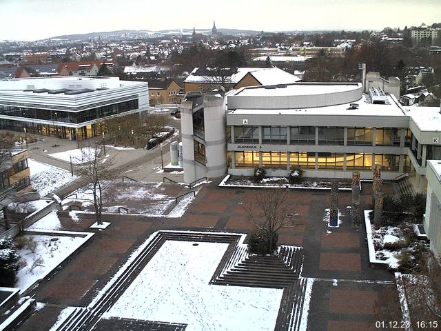
MULTIPOLYGON (((278 254, 271 256, 249 255, 247 245, 240 244, 242 234, 212 232, 160 231, 154 236, 136 258, 107 283, 107 290, 92 301, 88 307, 76 307, 67 319, 58 325, 58 331, 104 330, 101 315, 109 310, 127 290, 132 281, 154 257, 167 240, 229 243, 210 283, 212 285, 237 285, 260 288, 282 288, 282 300, 276 320, 277 331, 300 331, 300 321, 308 279, 302 279, 300 272, 303 249, 281 246, 278 254)), ((150 321, 146 321, 149 322, 150 321)), ((152 322, 153 323, 153 322, 152 322)), ((150 324, 149 324, 150 325, 150 324)), ((158 325, 156 325, 158 326, 158 325)), ((185 329, 185 325, 181 325, 185 329)), ((149 329, 150 330, 150 329, 149 329)), ((156 329, 152 329, 156 330, 156 329)), ((162 329, 157 329, 162 330, 162 329)), ((168 329, 167 329, 168 330, 168 329)))

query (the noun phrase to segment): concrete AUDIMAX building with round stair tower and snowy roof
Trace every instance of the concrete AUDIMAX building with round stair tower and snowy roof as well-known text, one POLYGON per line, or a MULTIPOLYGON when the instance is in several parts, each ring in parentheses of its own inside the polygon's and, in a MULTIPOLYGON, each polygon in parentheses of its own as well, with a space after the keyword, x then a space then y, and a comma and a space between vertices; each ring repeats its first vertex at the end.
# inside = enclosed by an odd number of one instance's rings
POLYGON ((360 83, 294 83, 206 95, 181 105, 184 180, 222 174, 270 176, 295 168, 306 177, 372 177, 404 172, 424 190, 427 159, 441 159, 439 109, 406 110, 379 88, 360 83), (438 128, 436 125, 438 124, 438 128))

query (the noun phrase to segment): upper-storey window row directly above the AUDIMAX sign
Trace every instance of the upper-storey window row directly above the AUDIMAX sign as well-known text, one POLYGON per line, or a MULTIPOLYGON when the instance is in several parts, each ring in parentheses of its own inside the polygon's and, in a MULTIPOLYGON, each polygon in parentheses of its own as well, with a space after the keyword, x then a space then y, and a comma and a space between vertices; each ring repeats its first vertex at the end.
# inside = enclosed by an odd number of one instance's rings
MULTIPOLYGON (((288 127, 286 126, 234 126, 235 143, 259 143, 262 128, 262 143, 286 144, 288 127)), ((400 146, 399 128, 377 128, 376 145, 400 146)), ((289 142, 291 144, 316 144, 315 126, 290 126, 289 142)), ((411 131, 407 129, 404 140, 411 142, 411 131)), ((373 128, 347 128, 347 145, 372 145, 373 128)), ((319 145, 344 145, 344 127, 318 127, 319 145)))

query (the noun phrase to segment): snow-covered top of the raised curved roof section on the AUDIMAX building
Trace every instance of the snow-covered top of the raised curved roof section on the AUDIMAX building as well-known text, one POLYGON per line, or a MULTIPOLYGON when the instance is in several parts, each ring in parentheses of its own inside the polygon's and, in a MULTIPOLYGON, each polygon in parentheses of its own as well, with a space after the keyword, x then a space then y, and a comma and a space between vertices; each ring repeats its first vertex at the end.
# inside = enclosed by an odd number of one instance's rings
MULTIPOLYGON (((282 86, 282 85, 281 85, 282 86)), ((337 92, 349 92, 360 88, 358 83, 348 84, 323 84, 323 83, 294 83, 291 85, 269 88, 268 86, 249 87, 238 90, 234 95, 239 97, 282 97, 299 95, 316 95, 337 92)))

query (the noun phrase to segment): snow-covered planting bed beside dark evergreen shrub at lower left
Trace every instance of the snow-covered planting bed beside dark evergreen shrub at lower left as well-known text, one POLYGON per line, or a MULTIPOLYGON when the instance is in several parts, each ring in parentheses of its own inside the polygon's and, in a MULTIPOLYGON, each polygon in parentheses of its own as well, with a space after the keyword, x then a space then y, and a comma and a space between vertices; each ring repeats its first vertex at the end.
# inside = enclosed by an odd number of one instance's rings
POLYGON ((28 248, 18 250, 21 260, 26 262, 26 265, 17 272, 17 283, 15 283, 15 287, 20 288, 21 292, 27 290, 39 279, 43 279, 90 238, 90 236, 65 237, 57 236, 57 234, 52 236, 32 234, 24 237, 37 243, 37 246, 34 252, 31 252, 28 248), (41 259, 42 265, 32 268, 32 263, 38 262, 38 259, 41 259))

